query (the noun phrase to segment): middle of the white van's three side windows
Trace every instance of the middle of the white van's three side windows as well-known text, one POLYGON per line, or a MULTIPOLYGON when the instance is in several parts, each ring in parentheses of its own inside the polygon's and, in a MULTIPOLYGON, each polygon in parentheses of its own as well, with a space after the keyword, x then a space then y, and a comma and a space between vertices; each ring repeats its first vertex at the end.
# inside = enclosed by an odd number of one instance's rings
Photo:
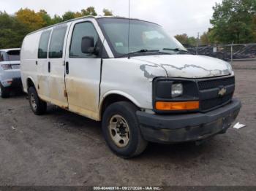
POLYGON ((50 38, 49 58, 62 58, 67 26, 54 28, 50 38))

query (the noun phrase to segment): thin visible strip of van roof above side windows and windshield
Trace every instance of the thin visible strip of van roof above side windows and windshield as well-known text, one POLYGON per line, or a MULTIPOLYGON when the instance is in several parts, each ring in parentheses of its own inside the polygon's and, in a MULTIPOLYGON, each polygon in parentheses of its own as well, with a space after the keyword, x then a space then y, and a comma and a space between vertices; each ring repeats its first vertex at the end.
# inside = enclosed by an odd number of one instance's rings
MULTIPOLYGON (((129 19, 129 18, 127 18, 127 17, 119 17, 119 16, 83 16, 83 17, 77 17, 77 18, 74 18, 74 19, 71 19, 71 20, 67 20, 67 21, 64 21, 64 22, 61 22, 61 23, 57 23, 57 24, 55 24, 55 25, 52 25, 52 26, 46 26, 46 27, 44 27, 44 28, 40 28, 40 29, 38 29, 37 31, 33 31, 33 32, 31 32, 31 33, 29 33, 29 34, 34 34, 34 33, 36 33, 36 32, 38 32, 38 31, 42 31, 42 30, 45 30, 45 29, 47 29, 47 28, 51 28, 51 27, 53 27, 53 26, 59 26, 59 25, 61 25, 61 24, 64 24, 64 23, 69 23, 69 22, 72 22, 72 21, 74 21, 74 20, 80 20, 80 19, 83 19, 83 18, 94 18, 94 19, 99 19, 99 18, 121 18, 121 19, 129 19)), ((140 20, 140 19, 138 19, 138 18, 130 18, 130 20, 140 20)), ((153 22, 150 22, 150 21, 146 21, 146 20, 140 20, 140 21, 145 21, 145 22, 148 22, 148 23, 153 23, 153 22)), ((157 24, 157 23, 154 23, 154 24, 157 24)), ((157 24, 158 25, 158 24, 157 24)), ((29 35, 29 34, 27 34, 27 35, 29 35)))

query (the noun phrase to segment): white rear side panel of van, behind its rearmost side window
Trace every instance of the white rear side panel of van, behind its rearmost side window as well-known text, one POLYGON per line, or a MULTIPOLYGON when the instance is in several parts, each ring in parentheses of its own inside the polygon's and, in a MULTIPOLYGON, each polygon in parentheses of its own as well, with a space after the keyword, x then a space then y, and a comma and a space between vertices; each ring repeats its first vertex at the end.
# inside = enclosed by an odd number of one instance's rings
POLYGON ((37 49, 41 31, 26 36, 20 52, 21 79, 24 92, 28 92, 27 79, 31 79, 37 88, 37 49))

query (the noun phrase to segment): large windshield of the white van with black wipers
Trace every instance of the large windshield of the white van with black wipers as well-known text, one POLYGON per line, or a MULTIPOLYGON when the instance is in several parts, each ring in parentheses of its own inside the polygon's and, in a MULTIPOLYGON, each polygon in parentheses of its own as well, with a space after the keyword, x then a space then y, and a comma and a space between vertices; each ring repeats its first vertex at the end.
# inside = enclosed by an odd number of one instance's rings
POLYGON ((123 18, 99 18, 98 23, 116 57, 124 57, 128 53, 132 56, 187 53, 180 42, 155 23, 130 20, 129 26, 129 20, 123 18))

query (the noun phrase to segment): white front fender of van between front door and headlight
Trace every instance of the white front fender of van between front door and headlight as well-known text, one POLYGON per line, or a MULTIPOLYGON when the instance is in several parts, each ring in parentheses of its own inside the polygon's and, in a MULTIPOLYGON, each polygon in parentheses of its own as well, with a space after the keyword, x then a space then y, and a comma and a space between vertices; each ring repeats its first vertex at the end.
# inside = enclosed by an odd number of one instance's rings
POLYGON ((107 95, 117 93, 129 98, 140 108, 152 109, 154 77, 167 77, 165 69, 134 58, 105 59, 102 66, 101 103, 107 95))

